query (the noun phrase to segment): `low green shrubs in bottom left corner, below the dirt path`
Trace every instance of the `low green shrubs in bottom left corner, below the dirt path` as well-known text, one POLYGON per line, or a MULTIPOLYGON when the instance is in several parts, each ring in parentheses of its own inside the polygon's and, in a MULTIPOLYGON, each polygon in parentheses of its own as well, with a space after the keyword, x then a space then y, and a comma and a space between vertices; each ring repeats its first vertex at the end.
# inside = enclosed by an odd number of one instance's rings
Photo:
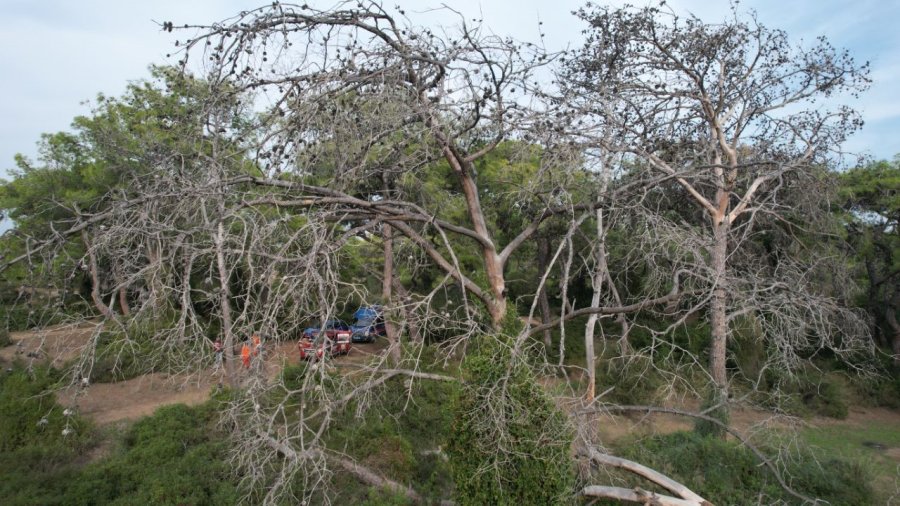
POLYGON ((109 436, 108 456, 93 460, 98 435, 55 402, 48 389, 58 380, 55 370, 21 366, 0 376, 0 504, 238 502, 217 401, 160 408, 109 436))

